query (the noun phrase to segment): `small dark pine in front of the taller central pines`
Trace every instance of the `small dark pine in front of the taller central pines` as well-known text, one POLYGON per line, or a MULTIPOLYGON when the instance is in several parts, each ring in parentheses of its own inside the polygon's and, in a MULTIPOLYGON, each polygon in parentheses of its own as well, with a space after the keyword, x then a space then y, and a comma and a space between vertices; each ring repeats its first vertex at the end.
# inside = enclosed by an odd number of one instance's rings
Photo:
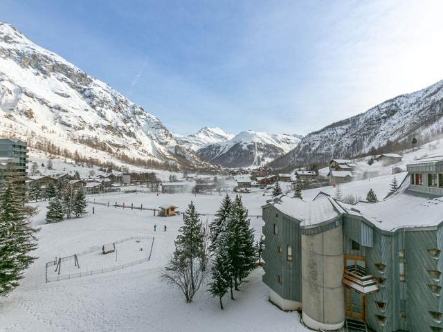
POLYGON ((213 266, 211 267, 211 279, 209 292, 213 297, 219 297, 220 308, 223 310, 223 302, 221 298, 228 293, 228 289, 232 288, 233 276, 231 275, 230 259, 224 234, 221 234, 217 241, 217 248, 213 266))

